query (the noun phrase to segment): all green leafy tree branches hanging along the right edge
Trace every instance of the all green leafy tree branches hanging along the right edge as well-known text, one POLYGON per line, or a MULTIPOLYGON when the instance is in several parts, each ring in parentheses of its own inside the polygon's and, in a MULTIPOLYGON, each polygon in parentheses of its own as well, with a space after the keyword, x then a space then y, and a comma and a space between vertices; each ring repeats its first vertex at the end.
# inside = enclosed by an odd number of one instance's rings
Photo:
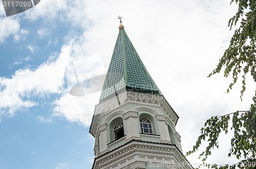
MULTIPOLYGON (((242 90, 240 98, 242 100, 245 91, 245 76, 248 72, 256 82, 256 59, 255 59, 255 37, 256 37, 256 1, 255 0, 231 0, 231 3, 238 4, 239 8, 228 22, 230 30, 240 21, 239 27, 234 31, 230 40, 229 47, 225 50, 223 57, 220 59, 217 68, 212 71, 208 77, 219 73, 224 69, 224 76, 228 77, 232 72, 233 81, 230 83, 227 93, 232 90, 232 86, 242 76, 242 90)), ((234 131, 231 138, 231 148, 228 157, 234 155, 239 159, 236 164, 217 164, 207 165, 211 168, 254 168, 256 167, 256 91, 252 98, 253 103, 247 111, 236 111, 224 116, 214 116, 208 119, 204 127, 201 128, 201 135, 198 137, 196 145, 187 155, 194 153, 201 145, 202 140, 206 140, 209 145, 202 152, 204 162, 214 148, 218 148, 218 137, 223 131, 234 131), (230 118, 232 117, 232 121, 230 118), (228 125, 232 123, 231 125, 228 125), (231 126, 231 127, 229 127, 231 126)))

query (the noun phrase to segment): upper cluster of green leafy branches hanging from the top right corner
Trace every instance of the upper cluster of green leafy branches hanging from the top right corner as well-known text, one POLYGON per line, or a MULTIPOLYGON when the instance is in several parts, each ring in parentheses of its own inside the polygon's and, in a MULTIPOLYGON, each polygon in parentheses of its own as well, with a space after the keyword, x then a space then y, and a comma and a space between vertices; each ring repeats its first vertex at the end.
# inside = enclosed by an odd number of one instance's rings
MULTIPOLYGON (((231 3, 234 1, 232 0, 231 3)), ((230 83, 229 89, 232 89, 237 82, 238 74, 242 74, 241 99, 245 91, 245 75, 250 71, 254 81, 256 81, 256 59, 255 59, 255 37, 256 37, 256 2, 254 0, 236 0, 239 3, 239 9, 236 15, 230 18, 228 26, 230 30, 241 19, 240 27, 234 32, 230 45, 220 59, 217 68, 209 74, 219 73, 222 67, 226 67, 224 76, 229 76, 232 71, 233 82, 230 83), (245 12, 248 11, 248 12, 245 12)), ((227 89, 227 93, 229 92, 227 89)))

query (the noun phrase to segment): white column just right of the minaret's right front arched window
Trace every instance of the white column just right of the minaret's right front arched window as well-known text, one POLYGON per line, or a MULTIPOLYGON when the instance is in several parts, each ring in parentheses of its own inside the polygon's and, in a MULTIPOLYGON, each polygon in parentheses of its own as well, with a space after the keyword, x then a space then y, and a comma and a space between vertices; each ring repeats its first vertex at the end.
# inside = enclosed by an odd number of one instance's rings
POLYGON ((161 143, 170 143, 170 136, 168 132, 168 127, 165 123, 165 116, 164 115, 156 115, 158 121, 158 128, 160 131, 160 139, 161 143))

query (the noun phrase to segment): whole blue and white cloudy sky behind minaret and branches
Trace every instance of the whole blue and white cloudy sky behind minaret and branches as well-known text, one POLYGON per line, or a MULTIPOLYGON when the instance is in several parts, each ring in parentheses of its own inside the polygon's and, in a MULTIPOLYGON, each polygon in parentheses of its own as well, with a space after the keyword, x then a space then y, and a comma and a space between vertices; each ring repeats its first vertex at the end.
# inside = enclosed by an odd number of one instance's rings
MULTIPOLYGON (((43 0, 6 17, 0 4, 0 168, 92 166, 94 139, 88 130, 100 92, 75 97, 69 90, 77 83, 74 68, 79 81, 108 70, 118 15, 180 117, 183 152, 190 150, 207 118, 251 103, 250 77, 243 102, 241 84, 226 94, 231 79, 207 78, 228 46, 227 22, 236 9, 224 0, 43 0)), ((209 162, 232 162, 225 153, 228 136, 209 162)), ((196 157, 188 160, 198 162, 196 157)))

